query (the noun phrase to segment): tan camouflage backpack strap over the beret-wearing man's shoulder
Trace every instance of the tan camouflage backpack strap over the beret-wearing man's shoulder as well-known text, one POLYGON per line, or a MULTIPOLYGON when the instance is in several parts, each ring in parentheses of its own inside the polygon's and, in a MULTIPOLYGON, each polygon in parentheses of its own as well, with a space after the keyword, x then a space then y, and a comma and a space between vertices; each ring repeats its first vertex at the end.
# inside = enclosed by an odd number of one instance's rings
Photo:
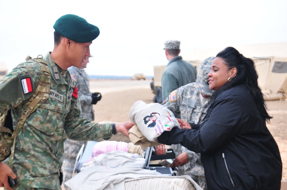
POLYGON ((15 152, 15 143, 16 138, 25 123, 27 117, 34 112, 44 101, 46 101, 49 98, 49 92, 50 92, 50 85, 51 85, 51 72, 49 69, 49 66, 47 62, 39 58, 32 59, 33 61, 36 61, 41 66, 41 77, 39 84, 34 92, 34 94, 31 96, 29 101, 23 106, 25 108, 24 112, 22 113, 22 116, 15 127, 15 130, 11 136, 11 140, 13 139, 13 148, 11 150, 10 160, 9 160, 9 166, 13 169, 13 159, 14 159, 14 152, 15 152))

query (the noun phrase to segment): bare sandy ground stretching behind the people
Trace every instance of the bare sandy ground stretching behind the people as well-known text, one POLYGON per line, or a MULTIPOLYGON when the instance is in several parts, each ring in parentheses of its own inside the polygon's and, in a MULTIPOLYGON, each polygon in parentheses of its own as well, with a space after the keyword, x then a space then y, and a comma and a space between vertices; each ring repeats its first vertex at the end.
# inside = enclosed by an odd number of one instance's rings
MULTIPOLYGON (((94 105, 97 122, 109 120, 124 122, 129 120, 129 110, 137 100, 152 103, 154 94, 151 80, 91 80, 93 92, 102 92, 102 100, 94 105)), ((282 180, 287 181, 287 101, 267 101, 268 112, 274 118, 267 127, 280 149, 283 163, 282 180)))

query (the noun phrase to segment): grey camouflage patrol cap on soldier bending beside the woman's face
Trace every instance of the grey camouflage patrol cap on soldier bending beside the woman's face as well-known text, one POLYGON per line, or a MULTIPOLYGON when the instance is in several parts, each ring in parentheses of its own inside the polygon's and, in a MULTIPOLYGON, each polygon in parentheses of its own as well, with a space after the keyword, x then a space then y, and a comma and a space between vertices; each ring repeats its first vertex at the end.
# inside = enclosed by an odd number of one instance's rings
POLYGON ((196 78, 196 88, 201 94, 205 94, 208 96, 211 96, 214 90, 209 89, 208 79, 207 76, 208 73, 211 71, 211 64, 212 61, 215 59, 215 57, 209 57, 205 59, 199 68, 199 74, 196 78))

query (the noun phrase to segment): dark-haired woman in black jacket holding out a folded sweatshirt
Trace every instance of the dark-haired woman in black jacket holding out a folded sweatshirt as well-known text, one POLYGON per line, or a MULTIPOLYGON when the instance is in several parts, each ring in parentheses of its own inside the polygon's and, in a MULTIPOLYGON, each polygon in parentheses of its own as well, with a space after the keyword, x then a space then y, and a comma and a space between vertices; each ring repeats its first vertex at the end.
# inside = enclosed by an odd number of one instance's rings
POLYGON ((254 62, 233 47, 219 52, 208 74, 214 102, 201 124, 179 120, 158 142, 201 153, 208 189, 280 190, 282 161, 266 127, 272 118, 254 62), (188 128, 192 129, 188 129, 188 128))

